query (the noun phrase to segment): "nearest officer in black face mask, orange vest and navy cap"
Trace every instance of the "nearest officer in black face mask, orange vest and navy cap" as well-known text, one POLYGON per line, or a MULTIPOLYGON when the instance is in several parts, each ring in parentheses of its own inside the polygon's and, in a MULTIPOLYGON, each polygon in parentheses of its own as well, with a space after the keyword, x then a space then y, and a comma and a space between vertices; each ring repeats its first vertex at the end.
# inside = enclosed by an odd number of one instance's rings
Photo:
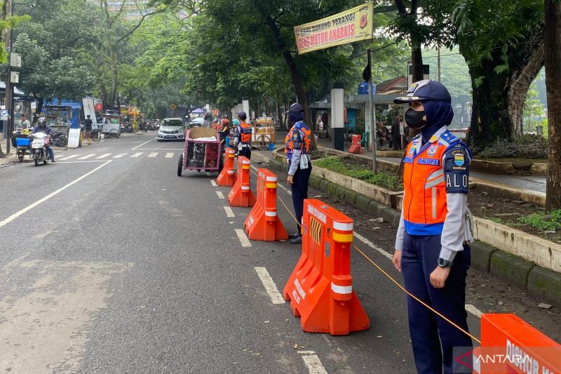
MULTIPOLYGON (((405 122, 421 131, 407 145, 404 159, 405 194, 393 265, 403 272, 410 293, 468 331, 471 153, 446 128, 454 112, 445 86, 419 81, 406 97, 393 101, 409 105, 405 122)), ((455 359, 471 352, 471 338, 411 297, 407 311, 417 372, 442 373, 443 367, 444 373, 463 373, 456 370, 461 363, 455 359)), ((461 361, 471 363, 470 357, 461 361)))

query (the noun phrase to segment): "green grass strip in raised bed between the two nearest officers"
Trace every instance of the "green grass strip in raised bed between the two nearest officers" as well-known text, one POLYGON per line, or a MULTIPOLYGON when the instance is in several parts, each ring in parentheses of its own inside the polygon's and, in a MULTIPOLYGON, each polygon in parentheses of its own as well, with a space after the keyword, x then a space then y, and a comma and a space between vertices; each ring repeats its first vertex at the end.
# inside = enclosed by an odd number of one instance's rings
POLYGON ((403 181, 395 174, 379 171, 377 174, 356 165, 347 165, 340 158, 326 158, 314 162, 320 168, 326 168, 342 175, 363 180, 371 185, 377 185, 387 189, 403 189, 403 181))

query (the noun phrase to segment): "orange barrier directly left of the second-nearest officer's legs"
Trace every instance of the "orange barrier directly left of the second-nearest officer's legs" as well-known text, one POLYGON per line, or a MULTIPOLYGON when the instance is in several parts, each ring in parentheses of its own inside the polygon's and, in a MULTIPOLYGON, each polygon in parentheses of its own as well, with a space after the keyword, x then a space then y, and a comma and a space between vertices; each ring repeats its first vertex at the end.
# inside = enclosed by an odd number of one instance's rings
POLYGON ((249 239, 288 239, 288 232, 276 215, 276 182, 276 175, 271 171, 264 168, 257 171, 257 203, 243 224, 249 239))

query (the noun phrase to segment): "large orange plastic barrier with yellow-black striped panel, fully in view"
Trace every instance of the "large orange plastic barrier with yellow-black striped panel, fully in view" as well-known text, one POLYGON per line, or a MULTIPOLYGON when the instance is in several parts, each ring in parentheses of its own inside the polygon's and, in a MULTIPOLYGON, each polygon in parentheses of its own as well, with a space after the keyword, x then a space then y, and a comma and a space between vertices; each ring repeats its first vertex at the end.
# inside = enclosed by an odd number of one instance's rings
POLYGON ((370 321, 353 291, 353 220, 316 199, 304 200, 302 255, 283 295, 307 333, 348 335, 370 321))

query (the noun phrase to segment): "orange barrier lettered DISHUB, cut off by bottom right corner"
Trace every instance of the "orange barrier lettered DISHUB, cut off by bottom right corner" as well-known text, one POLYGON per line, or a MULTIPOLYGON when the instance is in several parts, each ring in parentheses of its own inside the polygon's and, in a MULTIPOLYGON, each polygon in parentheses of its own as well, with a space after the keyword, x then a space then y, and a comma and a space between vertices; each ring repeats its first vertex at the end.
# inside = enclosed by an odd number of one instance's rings
MULTIPOLYGON (((462 357, 456 360, 464 362, 462 357)), ((473 373, 561 373, 561 345, 514 314, 482 314, 473 373)))

